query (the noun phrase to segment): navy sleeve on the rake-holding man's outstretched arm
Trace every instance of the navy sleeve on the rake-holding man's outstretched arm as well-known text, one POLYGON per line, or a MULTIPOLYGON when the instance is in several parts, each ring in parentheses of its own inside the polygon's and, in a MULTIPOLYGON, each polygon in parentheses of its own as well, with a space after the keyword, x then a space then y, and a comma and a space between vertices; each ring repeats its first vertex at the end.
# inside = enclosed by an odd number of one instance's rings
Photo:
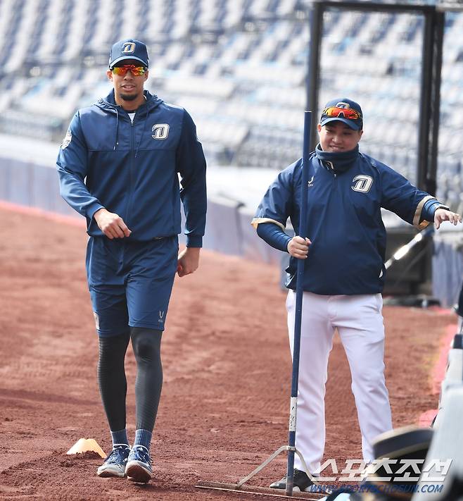
POLYGON ((429 221, 423 220, 421 212, 428 200, 435 199, 419 190, 392 168, 383 165, 381 170, 381 206, 392 211, 415 228, 423 229, 429 221))

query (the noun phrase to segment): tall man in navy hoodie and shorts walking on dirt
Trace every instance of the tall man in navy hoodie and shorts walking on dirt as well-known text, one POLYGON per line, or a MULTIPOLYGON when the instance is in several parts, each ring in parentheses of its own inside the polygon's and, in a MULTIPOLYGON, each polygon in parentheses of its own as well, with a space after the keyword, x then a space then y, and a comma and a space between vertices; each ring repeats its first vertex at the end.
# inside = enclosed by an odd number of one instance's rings
POLYGON ((144 90, 148 51, 143 42, 115 43, 107 75, 113 90, 75 113, 57 165, 63 198, 87 218, 98 381, 113 441, 97 474, 148 482, 163 383, 161 335, 176 271, 182 277, 198 268, 205 228, 205 159, 189 114, 144 90), (186 249, 178 254, 181 200, 186 249), (125 407, 129 340, 137 360, 132 448, 125 407))

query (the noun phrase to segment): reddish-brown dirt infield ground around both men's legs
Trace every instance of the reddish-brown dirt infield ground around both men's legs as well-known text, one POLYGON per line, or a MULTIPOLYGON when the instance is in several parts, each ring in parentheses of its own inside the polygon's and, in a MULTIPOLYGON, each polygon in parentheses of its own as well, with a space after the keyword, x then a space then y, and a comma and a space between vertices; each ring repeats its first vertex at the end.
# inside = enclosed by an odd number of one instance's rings
MULTIPOLYGON (((196 481, 235 482, 286 443, 291 361, 284 294, 269 266, 203 251, 176 279, 163 338, 163 397, 146 486, 98 478, 100 459, 67 456, 110 438, 96 385, 97 339, 84 276, 83 228, 0 209, 0 499, 240 500, 196 481)), ((436 407, 429 375, 455 316, 386 307, 386 378, 394 426, 436 407)), ((128 430, 135 364, 127 355, 128 430)), ((338 339, 326 389, 326 458, 360 457, 348 364, 338 339)), ((253 485, 284 473, 272 462, 253 485)), ((262 498, 262 497, 260 497, 262 498)))

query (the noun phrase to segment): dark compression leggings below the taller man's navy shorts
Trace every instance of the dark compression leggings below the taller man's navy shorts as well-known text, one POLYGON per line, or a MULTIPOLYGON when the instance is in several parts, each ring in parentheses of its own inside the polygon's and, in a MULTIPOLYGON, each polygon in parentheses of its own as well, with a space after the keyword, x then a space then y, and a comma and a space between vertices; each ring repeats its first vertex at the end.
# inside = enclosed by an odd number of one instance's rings
POLYGON ((161 335, 160 330, 132 327, 130 336, 122 334, 99 338, 98 381, 111 431, 123 430, 126 426, 127 380, 124 359, 130 338, 137 360, 135 381, 137 429, 153 431, 163 387, 163 366, 160 360, 161 335))

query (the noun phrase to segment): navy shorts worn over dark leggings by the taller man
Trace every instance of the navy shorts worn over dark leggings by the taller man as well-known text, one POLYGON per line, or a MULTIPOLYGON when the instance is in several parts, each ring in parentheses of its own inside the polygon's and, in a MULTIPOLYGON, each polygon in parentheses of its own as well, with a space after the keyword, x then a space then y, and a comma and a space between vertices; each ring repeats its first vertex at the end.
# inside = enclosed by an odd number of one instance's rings
POLYGON ((87 280, 99 335, 164 330, 178 250, 177 235, 148 242, 90 237, 87 280))

